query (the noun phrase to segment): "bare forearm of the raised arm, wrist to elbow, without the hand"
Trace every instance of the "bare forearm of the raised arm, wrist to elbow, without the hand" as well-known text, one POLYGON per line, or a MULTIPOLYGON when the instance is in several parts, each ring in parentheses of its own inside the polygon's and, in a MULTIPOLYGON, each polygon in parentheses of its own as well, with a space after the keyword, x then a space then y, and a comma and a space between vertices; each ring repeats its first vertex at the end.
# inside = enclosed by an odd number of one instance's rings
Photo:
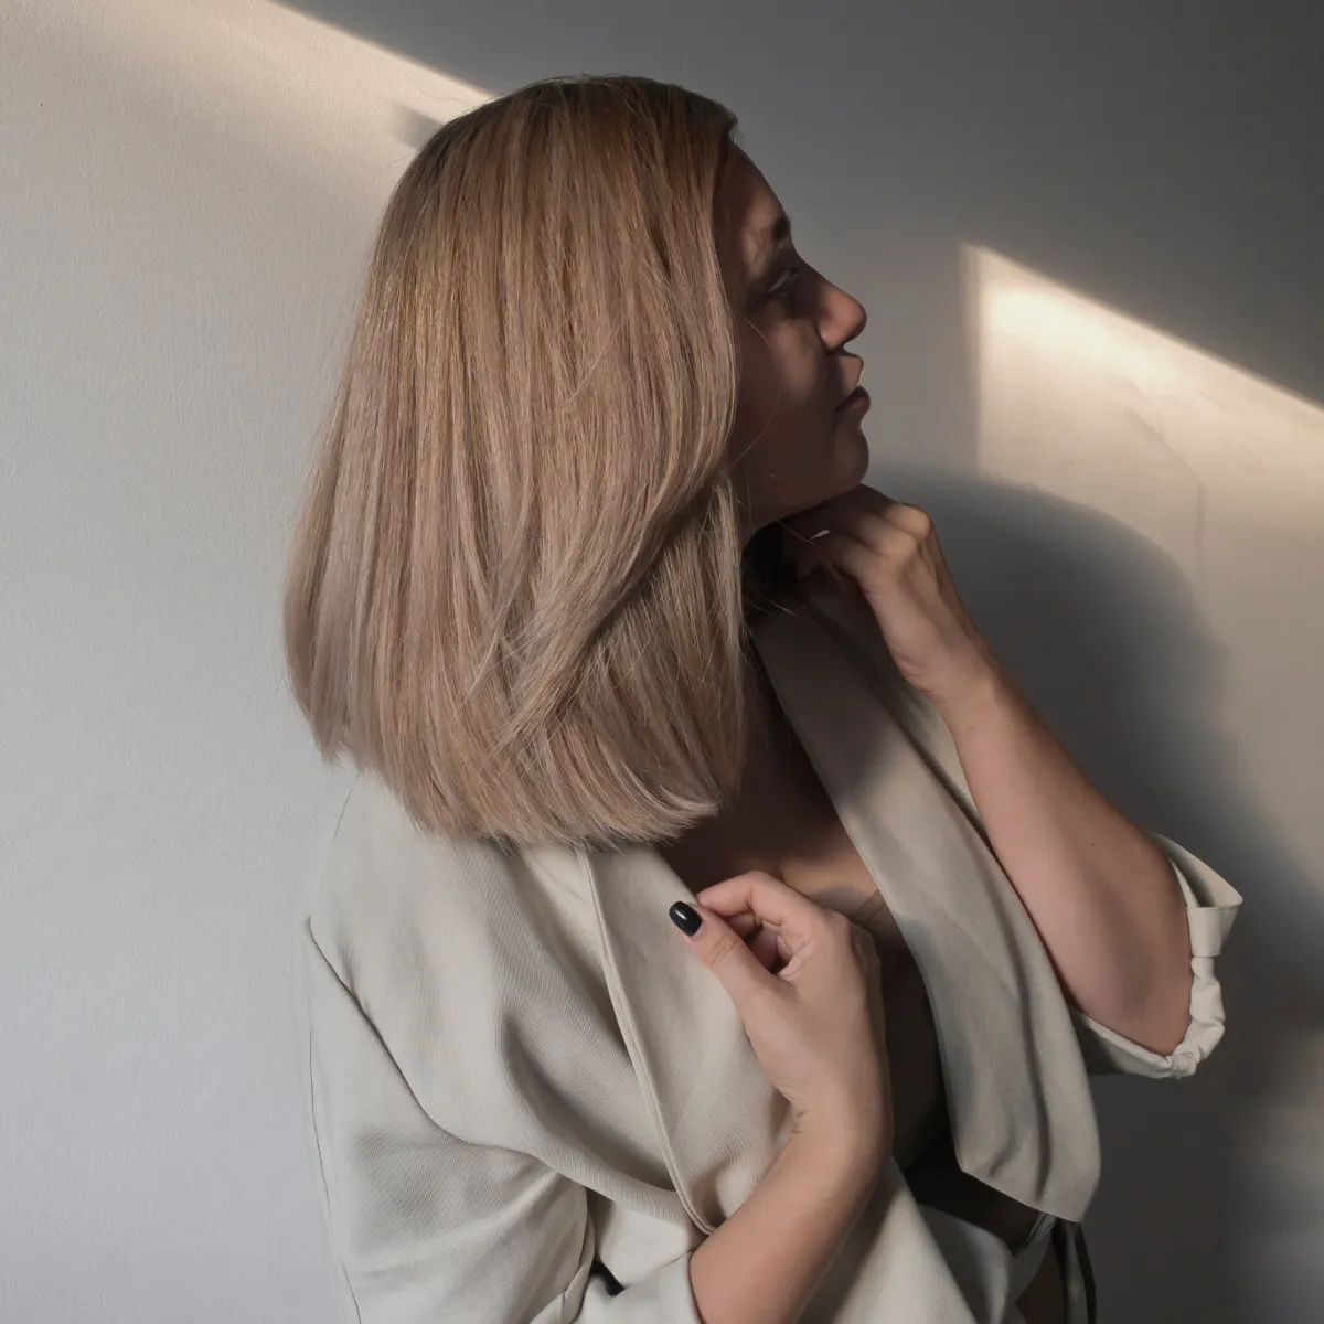
POLYGON ((1071 1001, 1170 1053, 1189 1023, 1190 935, 1169 862, 1090 785, 996 661, 937 707, 1071 1001))

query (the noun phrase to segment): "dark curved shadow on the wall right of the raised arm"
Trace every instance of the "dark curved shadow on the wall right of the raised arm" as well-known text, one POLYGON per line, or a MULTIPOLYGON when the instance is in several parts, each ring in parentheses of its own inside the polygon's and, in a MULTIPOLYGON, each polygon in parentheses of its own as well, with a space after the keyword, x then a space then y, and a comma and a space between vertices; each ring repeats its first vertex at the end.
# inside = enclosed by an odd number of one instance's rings
POLYGON ((932 514, 972 614, 1094 784, 1247 898, 1221 963, 1218 1053, 1189 1082, 1098 1084, 1102 1320, 1313 1317, 1324 992, 1256 912, 1290 906, 1324 959, 1324 904, 1221 730, 1222 646, 1185 576, 1119 520, 980 479, 890 467, 886 487, 932 514))

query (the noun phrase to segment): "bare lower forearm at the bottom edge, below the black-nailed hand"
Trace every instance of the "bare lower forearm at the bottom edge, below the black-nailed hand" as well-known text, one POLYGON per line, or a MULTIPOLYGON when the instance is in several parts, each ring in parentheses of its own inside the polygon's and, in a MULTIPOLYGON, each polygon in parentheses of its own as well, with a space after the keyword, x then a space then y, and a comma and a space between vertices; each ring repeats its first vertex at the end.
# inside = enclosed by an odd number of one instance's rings
POLYGON ((690 1258, 703 1324, 793 1324, 859 1217, 883 1158, 793 1135, 748 1200, 690 1258))

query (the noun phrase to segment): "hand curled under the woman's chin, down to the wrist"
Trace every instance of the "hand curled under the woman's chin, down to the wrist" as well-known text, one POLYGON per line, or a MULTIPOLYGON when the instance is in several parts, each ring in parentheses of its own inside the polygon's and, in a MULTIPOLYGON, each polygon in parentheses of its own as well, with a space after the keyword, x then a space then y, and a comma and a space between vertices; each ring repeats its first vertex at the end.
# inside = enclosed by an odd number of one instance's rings
POLYGON ((952 581, 932 519, 861 483, 782 520, 796 573, 835 567, 859 587, 896 667, 935 703, 996 670, 952 581), (829 532, 814 538, 820 530, 829 532))

